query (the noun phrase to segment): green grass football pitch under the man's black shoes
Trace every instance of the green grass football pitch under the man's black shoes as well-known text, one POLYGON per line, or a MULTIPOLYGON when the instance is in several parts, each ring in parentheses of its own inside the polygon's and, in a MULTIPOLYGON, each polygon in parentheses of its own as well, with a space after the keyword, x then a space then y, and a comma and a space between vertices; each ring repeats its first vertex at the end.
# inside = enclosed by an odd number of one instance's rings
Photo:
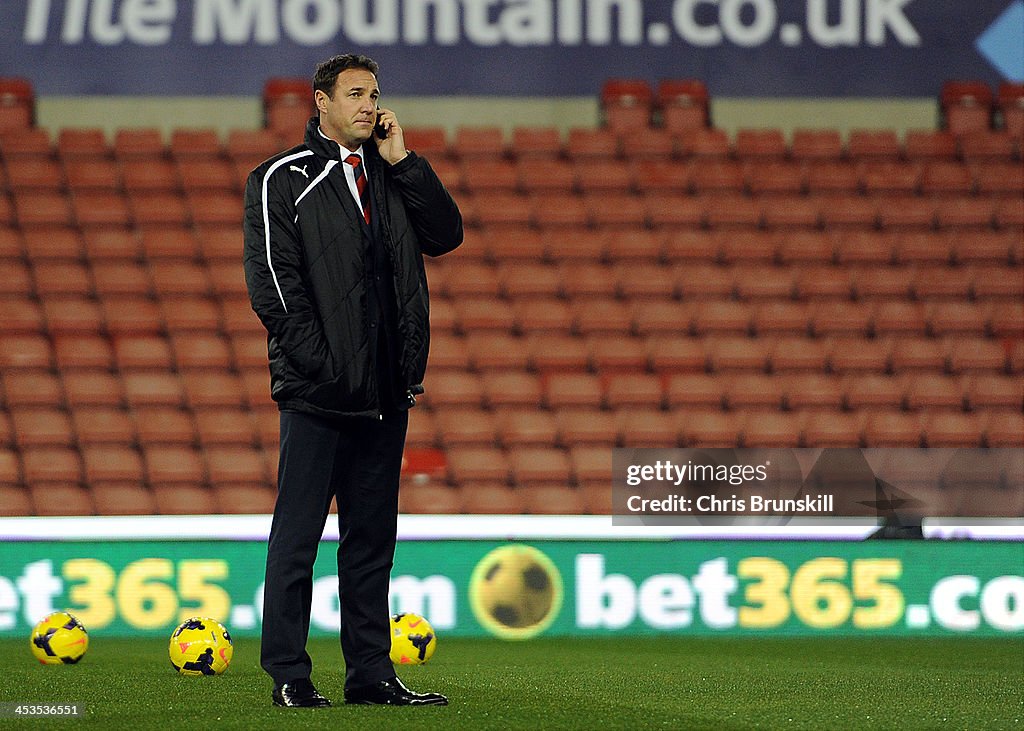
POLYGON ((0 728, 104 729, 1024 729, 1024 638, 445 640, 399 675, 447 707, 342 703, 333 640, 310 643, 332 708, 274 708, 259 643, 228 671, 183 678, 166 641, 93 635, 77 665, 44 666, 0 642, 0 702, 81 702, 81 720, 0 728))

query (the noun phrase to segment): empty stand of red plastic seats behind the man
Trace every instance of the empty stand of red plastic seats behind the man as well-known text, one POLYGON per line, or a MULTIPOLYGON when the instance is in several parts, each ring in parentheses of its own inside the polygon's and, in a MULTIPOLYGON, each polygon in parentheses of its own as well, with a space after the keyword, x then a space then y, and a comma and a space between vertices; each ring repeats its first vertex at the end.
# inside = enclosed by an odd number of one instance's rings
MULTIPOLYGON (((272 508, 237 221, 311 92, 265 92, 226 143, 51 139, 0 101, 6 514, 272 508)), ((1019 89, 993 98, 787 140, 711 127, 699 82, 615 80, 597 129, 410 128, 467 227, 427 262, 402 509, 607 512, 614 446, 1024 446, 1019 89)))

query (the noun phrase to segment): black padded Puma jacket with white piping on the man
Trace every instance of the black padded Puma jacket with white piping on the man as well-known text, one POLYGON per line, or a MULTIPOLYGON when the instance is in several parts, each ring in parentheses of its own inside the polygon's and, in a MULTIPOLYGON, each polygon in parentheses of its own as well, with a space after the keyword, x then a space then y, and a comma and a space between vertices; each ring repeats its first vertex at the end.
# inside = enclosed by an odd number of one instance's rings
MULTIPOLYGON (((362 145, 380 216, 378 243, 393 272, 396 378, 410 406, 422 392, 430 343, 423 255, 462 243, 462 215, 426 159, 411 152, 389 166, 362 145)), ((305 141, 261 163, 245 198, 245 273, 267 331, 270 395, 280 408, 325 417, 381 413, 368 333, 362 220, 336 142, 314 117, 305 141)))

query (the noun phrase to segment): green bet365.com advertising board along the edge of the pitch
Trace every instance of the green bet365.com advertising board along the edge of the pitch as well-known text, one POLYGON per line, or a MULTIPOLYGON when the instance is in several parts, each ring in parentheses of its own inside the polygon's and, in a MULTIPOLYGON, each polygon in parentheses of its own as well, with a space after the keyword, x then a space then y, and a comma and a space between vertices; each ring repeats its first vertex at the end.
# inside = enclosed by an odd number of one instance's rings
MULTIPOLYGON (((259 633, 256 541, 7 542, 0 637, 70 609, 90 633, 166 635, 183 618, 259 633)), ((1024 633, 1019 542, 406 541, 393 611, 450 637, 1024 633)), ((339 621, 335 545, 314 570, 312 635, 339 621)))

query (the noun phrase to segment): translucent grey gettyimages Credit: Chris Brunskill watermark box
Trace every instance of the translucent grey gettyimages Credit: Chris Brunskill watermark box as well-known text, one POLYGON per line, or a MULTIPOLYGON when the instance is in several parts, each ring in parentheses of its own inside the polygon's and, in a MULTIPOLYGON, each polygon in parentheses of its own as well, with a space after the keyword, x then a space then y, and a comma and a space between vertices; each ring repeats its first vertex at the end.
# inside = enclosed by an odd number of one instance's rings
POLYGON ((1015 449, 613 449, 613 522, 920 524, 1024 514, 1015 449))

